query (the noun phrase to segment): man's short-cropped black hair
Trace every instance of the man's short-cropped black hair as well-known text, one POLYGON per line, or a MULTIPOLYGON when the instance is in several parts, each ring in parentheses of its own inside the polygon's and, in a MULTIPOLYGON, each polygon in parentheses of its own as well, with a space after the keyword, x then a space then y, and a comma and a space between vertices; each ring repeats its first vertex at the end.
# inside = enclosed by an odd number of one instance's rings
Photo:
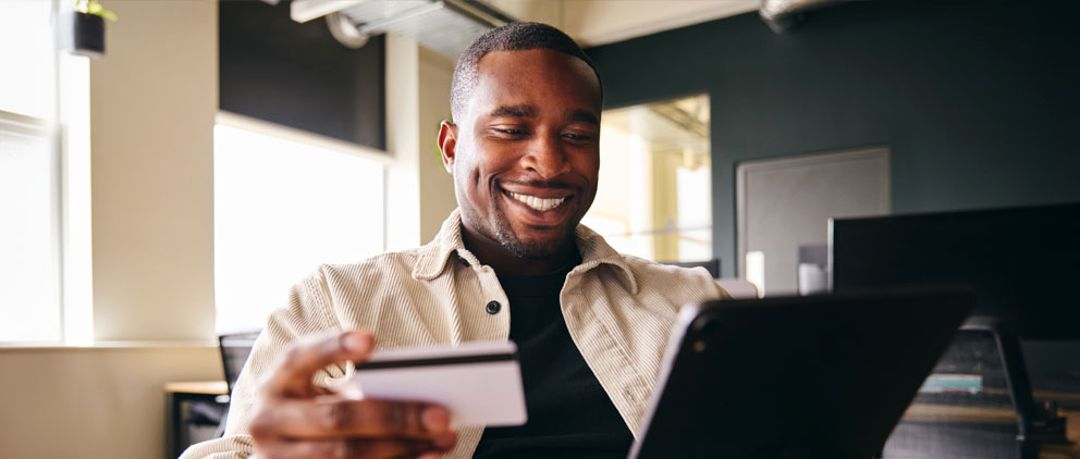
POLYGON ((581 51, 581 47, 574 42, 573 38, 548 24, 510 23, 486 32, 462 52, 462 57, 457 60, 457 66, 454 67, 454 80, 450 88, 451 115, 455 120, 464 116, 465 104, 468 103, 472 89, 476 88, 480 59, 494 51, 526 51, 530 49, 555 50, 584 61, 597 75, 601 99, 603 99, 603 82, 600 79, 600 72, 597 71, 597 66, 585 54, 585 51, 581 51))

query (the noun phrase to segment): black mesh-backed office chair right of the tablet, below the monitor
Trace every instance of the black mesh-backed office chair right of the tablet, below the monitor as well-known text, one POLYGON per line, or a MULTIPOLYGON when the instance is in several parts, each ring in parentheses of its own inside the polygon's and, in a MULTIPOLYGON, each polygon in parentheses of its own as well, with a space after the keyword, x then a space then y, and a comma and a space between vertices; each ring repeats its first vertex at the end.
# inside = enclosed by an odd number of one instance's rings
POLYGON ((1035 404, 1028 373, 1016 368, 1023 356, 1009 326, 968 320, 916 396, 920 415, 901 419, 884 457, 1022 459, 1067 445, 1066 413, 1035 404))

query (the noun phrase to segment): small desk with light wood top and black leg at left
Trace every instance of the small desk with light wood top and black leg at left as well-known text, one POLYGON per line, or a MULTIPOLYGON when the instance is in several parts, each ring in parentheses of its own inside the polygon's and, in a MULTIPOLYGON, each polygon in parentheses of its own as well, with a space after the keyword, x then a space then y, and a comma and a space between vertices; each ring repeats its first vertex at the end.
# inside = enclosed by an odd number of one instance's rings
MULTIPOLYGON (((175 459, 189 445, 209 439, 200 436, 193 438, 188 432, 188 425, 193 420, 192 406, 202 404, 204 407, 216 407, 220 410, 220 414, 224 415, 229 407, 229 386, 224 381, 196 381, 165 383, 164 389, 165 419, 169 423, 164 454, 167 459, 175 459)), ((214 431, 217 425, 212 426, 210 437, 214 431)))

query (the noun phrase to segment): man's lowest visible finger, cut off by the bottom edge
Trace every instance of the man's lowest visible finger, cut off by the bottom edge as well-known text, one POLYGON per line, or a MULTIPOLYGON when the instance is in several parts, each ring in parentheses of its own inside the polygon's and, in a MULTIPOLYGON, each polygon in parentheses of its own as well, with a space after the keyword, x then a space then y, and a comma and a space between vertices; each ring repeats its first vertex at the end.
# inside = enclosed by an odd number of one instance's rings
POLYGON ((259 459, 352 459, 352 458, 415 458, 435 457, 454 447, 456 436, 435 441, 386 438, 321 439, 310 442, 278 441, 260 444, 259 459))

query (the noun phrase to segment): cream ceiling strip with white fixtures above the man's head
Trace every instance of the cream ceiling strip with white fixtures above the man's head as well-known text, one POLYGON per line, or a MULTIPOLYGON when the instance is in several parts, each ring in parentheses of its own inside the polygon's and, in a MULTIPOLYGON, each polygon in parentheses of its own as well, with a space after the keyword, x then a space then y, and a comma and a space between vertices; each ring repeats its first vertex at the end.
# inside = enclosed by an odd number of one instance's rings
MULTIPOLYGON (((263 0, 274 1, 274 0, 263 0)), ((491 24, 531 21, 559 27, 582 47, 605 45, 754 11, 761 0, 293 0, 291 16, 327 16, 349 48, 383 33, 456 58, 491 24)))

